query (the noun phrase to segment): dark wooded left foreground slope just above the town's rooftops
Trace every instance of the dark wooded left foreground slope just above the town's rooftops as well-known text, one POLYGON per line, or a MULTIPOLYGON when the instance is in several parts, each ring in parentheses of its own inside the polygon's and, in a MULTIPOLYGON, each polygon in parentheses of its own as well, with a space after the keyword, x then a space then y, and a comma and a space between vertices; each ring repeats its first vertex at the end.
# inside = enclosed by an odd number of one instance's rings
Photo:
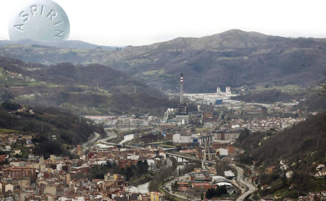
MULTIPOLYGON (((80 121, 79 116, 59 108, 34 106, 22 110, 21 105, 11 102, 1 103, 0 128, 1 131, 36 135, 32 138, 33 143, 36 144, 32 152, 37 155, 43 154, 45 158, 50 157, 51 154, 71 155, 64 147, 82 144, 89 137, 94 136, 94 132, 106 136, 103 128, 92 121, 85 119, 80 121), (21 111, 17 111, 18 109, 21 111), (52 136, 55 136, 56 140, 53 140, 52 136), (63 146, 63 144, 67 145, 63 146)), ((29 152, 24 151, 23 157, 28 157, 29 152)))

